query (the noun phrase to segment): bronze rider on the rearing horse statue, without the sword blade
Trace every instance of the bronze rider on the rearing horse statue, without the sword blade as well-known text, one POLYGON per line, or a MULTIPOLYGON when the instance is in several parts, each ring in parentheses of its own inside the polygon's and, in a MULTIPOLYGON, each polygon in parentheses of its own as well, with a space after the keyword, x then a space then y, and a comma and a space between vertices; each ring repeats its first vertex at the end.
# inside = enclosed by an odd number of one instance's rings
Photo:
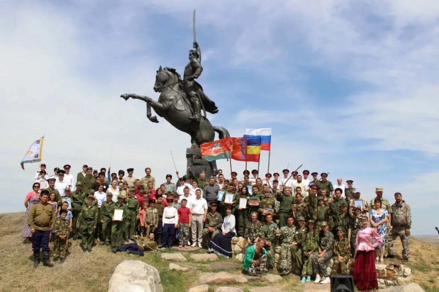
POLYGON ((203 72, 203 67, 201 65, 201 50, 197 42, 194 42, 194 48, 195 50, 189 51, 189 63, 184 67, 183 87, 193 108, 193 115, 189 117, 189 119, 199 123, 201 121, 202 107, 204 111, 212 114, 216 114, 218 108, 215 106, 215 103, 205 95, 201 85, 194 81, 194 79, 200 77, 201 72, 203 72))

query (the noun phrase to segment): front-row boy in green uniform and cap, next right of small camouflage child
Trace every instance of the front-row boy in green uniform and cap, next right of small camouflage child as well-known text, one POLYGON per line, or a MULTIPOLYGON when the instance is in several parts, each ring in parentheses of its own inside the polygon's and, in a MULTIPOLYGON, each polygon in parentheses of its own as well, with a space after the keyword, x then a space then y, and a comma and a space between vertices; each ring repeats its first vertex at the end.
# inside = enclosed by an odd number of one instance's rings
POLYGON ((89 195, 87 197, 87 205, 83 206, 79 214, 79 228, 82 229, 82 249, 91 252, 93 245, 93 233, 97 226, 98 209, 93 204, 94 197, 89 195))

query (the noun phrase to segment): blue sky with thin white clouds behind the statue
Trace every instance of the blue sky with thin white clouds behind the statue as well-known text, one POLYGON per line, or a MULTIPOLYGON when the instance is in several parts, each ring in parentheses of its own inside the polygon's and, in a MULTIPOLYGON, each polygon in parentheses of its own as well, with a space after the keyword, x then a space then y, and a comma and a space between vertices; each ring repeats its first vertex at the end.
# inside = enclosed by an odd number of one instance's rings
MULTIPOLYGON (((160 65, 180 74, 192 11, 204 72, 233 136, 273 129, 270 172, 303 169, 353 179, 367 199, 403 193, 413 234, 434 234, 439 199, 439 7, 435 1, 3 1, 0 170, 5 203, 22 211, 37 165, 19 167, 46 135, 49 169, 151 167, 158 181, 185 168, 189 137, 146 119, 160 65), (13 182, 10 182, 11 177, 13 182)), ((260 169, 266 169, 263 153, 260 169)), ((242 172, 244 163, 232 162, 242 172)), ((219 167, 230 171, 227 161, 219 167)), ((256 168, 250 163, 248 168, 256 168)), ((262 172, 265 173, 266 170, 262 172)))

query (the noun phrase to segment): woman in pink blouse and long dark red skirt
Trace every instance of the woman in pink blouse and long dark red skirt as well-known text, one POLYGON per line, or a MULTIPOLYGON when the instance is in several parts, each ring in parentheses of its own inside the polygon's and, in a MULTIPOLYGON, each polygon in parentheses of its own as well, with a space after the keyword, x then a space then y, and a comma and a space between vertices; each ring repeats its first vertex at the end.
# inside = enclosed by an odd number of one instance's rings
POLYGON ((363 227, 358 231, 355 242, 354 284, 360 291, 378 289, 377 271, 375 269, 374 249, 382 239, 372 227, 367 227, 367 216, 361 220, 363 227), (372 238, 376 242, 372 243, 372 238))

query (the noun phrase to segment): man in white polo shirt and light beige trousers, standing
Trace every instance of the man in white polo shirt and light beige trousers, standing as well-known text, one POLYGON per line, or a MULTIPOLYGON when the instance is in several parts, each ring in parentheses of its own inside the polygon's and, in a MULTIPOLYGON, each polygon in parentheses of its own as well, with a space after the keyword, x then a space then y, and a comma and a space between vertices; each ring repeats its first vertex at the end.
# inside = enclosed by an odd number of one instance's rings
POLYGON ((195 198, 191 200, 190 204, 188 204, 188 208, 191 209, 192 220, 191 220, 191 229, 192 229, 192 245, 191 247, 197 246, 202 248, 202 240, 203 240, 203 224, 206 221, 207 216, 207 201, 202 198, 201 190, 197 189, 195 191, 195 198))

